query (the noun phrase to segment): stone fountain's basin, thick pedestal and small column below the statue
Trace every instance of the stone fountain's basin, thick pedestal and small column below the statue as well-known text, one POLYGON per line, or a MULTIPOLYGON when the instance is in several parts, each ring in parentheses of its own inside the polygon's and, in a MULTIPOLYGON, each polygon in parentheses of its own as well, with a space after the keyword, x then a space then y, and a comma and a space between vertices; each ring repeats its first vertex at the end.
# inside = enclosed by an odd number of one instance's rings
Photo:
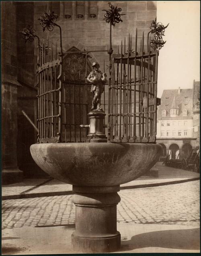
POLYGON ((161 148, 157 144, 101 142, 105 140, 105 113, 93 110, 88 115, 90 142, 34 144, 31 155, 51 177, 73 185, 73 249, 115 252, 121 245, 117 231, 120 185, 146 173, 158 160, 161 148))

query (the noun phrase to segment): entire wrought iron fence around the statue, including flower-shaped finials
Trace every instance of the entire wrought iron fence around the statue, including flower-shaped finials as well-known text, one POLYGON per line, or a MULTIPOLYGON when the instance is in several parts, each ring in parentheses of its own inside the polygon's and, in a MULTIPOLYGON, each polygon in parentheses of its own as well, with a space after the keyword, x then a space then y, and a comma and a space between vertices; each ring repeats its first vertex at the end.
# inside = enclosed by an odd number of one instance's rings
POLYGON ((113 54, 111 28, 122 22, 121 16, 125 14, 120 14, 121 8, 115 8, 111 3, 109 7, 109 10, 104 10, 104 19, 110 24, 109 50, 79 51, 72 48, 63 52, 62 29, 55 23, 57 15, 53 11, 45 12, 39 20, 43 31, 59 27, 59 50, 52 41, 43 40, 41 44, 32 27, 23 30, 26 42, 32 42, 35 37, 38 39, 38 143, 85 142, 87 128, 81 129, 80 125, 89 123, 87 114, 92 102, 91 85, 86 80, 91 71, 90 52, 109 54, 106 63, 109 68, 108 84, 104 85, 102 97, 104 112, 108 98, 108 141, 156 142, 156 112, 160 104, 157 98, 158 50, 165 44, 162 36, 168 25, 164 27, 156 19, 153 21, 147 35, 147 51, 144 33, 140 47, 137 46, 136 30, 135 49, 132 49, 129 36, 127 51, 125 42, 124 46, 121 42, 121 52, 113 54), (154 34, 152 39, 150 34, 154 34))

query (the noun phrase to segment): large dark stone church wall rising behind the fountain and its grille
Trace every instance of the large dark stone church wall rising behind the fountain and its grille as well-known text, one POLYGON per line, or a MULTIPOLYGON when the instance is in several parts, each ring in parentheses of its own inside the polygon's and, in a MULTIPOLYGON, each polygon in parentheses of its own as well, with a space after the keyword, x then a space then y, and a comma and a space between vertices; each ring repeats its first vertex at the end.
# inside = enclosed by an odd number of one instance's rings
MULTIPOLYGON (((112 29, 113 50, 116 52, 121 40, 137 28, 138 40, 144 31, 145 42, 150 25, 156 18, 155 1, 117 1, 114 6, 122 8, 123 22, 112 29)), ((36 1, 1 2, 2 17, 2 181, 19 181, 22 177, 38 177, 45 173, 33 161, 29 147, 37 141, 37 132, 23 116, 24 110, 37 124, 37 40, 27 42, 20 31, 30 25, 36 35, 59 45, 59 29, 44 31, 39 18, 46 11, 54 11, 62 27, 64 51, 108 50, 109 24, 103 21, 103 9, 107 1, 36 1), (12 17, 12 18, 11 18, 12 17), (23 172, 22 172, 23 171, 23 172)), ((138 42, 138 43, 139 43, 138 42)), ((146 47, 146 43, 145 43, 146 47)), ((90 62, 98 61, 103 71, 103 62, 108 60, 107 52, 92 53, 90 62)))

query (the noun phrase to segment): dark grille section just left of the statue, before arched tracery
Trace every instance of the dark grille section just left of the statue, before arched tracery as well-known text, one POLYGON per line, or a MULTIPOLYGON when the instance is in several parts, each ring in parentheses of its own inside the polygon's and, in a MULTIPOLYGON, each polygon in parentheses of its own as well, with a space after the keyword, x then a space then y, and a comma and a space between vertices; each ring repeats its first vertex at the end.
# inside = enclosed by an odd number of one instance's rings
POLYGON ((92 95, 86 76, 92 70, 89 54, 72 47, 63 59, 62 142, 85 142, 87 130, 80 124, 88 123, 92 95))

